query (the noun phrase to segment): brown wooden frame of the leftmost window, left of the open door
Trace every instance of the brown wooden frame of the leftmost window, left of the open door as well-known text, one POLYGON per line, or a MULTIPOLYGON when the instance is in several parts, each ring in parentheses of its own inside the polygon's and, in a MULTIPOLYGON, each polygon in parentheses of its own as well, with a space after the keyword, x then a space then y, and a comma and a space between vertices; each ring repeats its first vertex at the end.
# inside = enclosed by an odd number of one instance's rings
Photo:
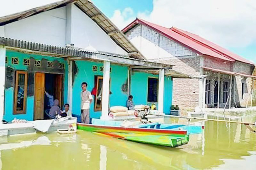
POLYGON ((14 90, 14 111, 13 114, 26 114, 26 105, 27 105, 27 72, 16 70, 15 75, 15 90, 14 90), (17 97, 18 97, 18 80, 19 74, 25 74, 25 82, 24 82, 24 99, 23 99, 23 110, 17 111, 17 97))

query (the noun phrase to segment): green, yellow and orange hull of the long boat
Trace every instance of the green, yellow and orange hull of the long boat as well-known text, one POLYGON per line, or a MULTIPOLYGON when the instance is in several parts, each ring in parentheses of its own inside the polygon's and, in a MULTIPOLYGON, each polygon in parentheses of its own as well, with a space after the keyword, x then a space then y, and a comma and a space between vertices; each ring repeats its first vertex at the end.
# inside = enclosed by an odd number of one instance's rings
POLYGON ((124 128, 84 123, 77 123, 77 129, 134 142, 168 147, 181 146, 187 144, 189 141, 189 135, 187 134, 187 131, 149 128, 124 128))

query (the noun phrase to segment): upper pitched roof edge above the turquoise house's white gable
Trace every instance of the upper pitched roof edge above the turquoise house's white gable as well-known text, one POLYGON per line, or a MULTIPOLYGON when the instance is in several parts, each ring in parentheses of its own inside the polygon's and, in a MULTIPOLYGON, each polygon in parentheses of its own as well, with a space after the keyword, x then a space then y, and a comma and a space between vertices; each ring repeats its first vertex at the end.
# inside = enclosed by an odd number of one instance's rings
POLYGON ((104 30, 115 41, 117 45, 128 53, 129 57, 145 60, 145 57, 143 57, 136 47, 133 46, 129 39, 126 38, 126 36, 92 2, 88 0, 63 0, 12 15, 0 17, 0 26, 36 15, 47 10, 65 6, 68 3, 74 3, 84 13, 86 13, 86 15, 97 23, 101 29, 104 30))

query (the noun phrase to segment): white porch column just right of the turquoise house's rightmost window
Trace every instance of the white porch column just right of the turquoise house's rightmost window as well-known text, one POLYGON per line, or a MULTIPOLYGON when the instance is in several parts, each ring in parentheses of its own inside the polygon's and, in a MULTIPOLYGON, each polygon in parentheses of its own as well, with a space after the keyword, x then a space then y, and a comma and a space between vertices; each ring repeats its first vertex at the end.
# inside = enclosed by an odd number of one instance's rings
POLYGON ((165 69, 159 69, 158 112, 160 113, 164 113, 164 83, 165 83, 165 69))

